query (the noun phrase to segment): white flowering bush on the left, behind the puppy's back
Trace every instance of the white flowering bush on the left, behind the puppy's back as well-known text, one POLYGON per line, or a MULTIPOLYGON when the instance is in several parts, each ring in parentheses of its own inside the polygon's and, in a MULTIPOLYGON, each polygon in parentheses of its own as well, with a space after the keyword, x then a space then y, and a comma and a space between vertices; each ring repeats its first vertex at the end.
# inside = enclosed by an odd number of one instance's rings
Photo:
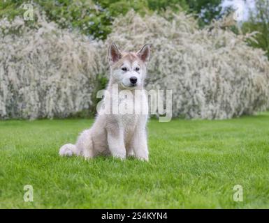
POLYGON ((101 43, 38 15, 0 21, 0 118, 66 117, 92 105, 101 43))

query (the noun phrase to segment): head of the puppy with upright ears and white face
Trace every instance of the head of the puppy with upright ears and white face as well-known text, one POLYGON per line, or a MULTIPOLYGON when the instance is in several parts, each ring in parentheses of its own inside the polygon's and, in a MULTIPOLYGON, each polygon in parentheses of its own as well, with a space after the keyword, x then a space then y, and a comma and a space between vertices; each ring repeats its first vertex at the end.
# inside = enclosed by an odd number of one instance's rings
POLYGON ((150 45, 148 44, 135 53, 120 52, 115 43, 112 43, 108 49, 112 84, 119 84, 122 89, 143 87, 149 58, 150 45))

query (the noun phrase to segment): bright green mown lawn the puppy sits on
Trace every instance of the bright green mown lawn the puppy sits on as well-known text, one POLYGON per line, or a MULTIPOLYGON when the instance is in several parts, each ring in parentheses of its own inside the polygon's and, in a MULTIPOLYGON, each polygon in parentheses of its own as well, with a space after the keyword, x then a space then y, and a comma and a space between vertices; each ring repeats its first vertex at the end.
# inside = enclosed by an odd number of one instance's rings
POLYGON ((59 157, 92 120, 0 121, 0 208, 269 208, 269 113, 149 123, 150 162, 59 157), (233 186, 242 185, 242 202, 233 186), (24 202, 33 185, 34 202, 24 202))

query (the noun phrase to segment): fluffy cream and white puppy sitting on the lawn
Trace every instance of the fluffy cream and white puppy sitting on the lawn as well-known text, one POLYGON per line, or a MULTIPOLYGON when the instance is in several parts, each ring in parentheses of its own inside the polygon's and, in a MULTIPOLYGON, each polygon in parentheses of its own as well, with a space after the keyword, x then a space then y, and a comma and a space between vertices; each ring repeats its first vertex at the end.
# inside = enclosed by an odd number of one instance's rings
POLYGON ((149 57, 150 45, 144 45, 136 53, 120 52, 114 43, 110 45, 110 80, 100 104, 100 107, 104 107, 103 112, 96 116, 92 128, 80 134, 75 145, 61 146, 59 155, 81 155, 85 158, 112 155, 122 160, 133 155, 139 160, 148 161, 148 104, 143 84, 149 57), (123 96, 119 96, 121 93, 123 96), (124 113, 118 111, 120 107, 127 110, 135 107, 140 112, 131 109, 131 112, 124 113))

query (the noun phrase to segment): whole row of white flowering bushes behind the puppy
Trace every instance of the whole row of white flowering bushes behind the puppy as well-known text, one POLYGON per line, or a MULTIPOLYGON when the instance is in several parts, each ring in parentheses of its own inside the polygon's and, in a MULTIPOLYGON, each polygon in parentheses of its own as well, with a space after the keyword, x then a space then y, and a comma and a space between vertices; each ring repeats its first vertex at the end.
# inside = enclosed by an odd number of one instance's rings
POLYGON ((147 89, 173 90, 173 116, 222 119, 268 108, 269 63, 261 49, 215 22, 198 29, 184 13, 118 17, 106 43, 59 29, 0 20, 0 119, 53 118, 95 110, 107 49, 152 45, 147 89), (222 28, 221 28, 222 27, 222 28))

